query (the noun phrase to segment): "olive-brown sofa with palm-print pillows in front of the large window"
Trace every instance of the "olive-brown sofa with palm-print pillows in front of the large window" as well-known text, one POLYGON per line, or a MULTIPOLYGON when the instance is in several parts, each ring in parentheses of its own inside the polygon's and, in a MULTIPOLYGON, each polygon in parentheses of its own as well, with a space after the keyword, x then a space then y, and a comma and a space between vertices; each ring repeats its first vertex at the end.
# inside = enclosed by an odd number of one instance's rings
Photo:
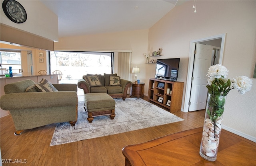
POLYGON ((129 80, 121 79, 117 74, 87 74, 78 80, 78 88, 87 93, 107 93, 112 98, 125 100, 127 90, 132 86, 129 80))

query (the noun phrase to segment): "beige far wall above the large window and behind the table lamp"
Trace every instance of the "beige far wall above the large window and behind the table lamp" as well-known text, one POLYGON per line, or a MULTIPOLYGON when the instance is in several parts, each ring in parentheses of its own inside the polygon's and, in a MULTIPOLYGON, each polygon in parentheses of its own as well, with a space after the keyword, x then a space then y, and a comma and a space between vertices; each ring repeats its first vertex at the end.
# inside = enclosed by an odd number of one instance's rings
MULTIPOLYGON (((138 79, 140 79, 141 82, 148 83, 148 79, 146 79, 148 71, 145 70, 146 59, 143 55, 143 53, 147 52, 147 46, 148 29, 142 29, 136 31, 64 37, 60 38, 59 42, 54 43, 54 50, 132 52, 130 72, 132 67, 140 67, 140 73, 137 74, 138 79)), ((118 70, 116 65, 115 70, 118 70)), ((134 73, 130 75, 131 81, 134 81, 132 80, 134 75, 134 73)), ((146 86, 145 89, 147 92, 146 86)))

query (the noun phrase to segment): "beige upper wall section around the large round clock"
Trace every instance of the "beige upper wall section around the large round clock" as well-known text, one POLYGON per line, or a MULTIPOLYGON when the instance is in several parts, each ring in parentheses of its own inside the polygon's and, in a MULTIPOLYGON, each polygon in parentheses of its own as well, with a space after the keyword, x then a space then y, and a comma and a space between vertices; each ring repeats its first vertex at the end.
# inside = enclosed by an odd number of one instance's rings
MULTIPOLYGON (((3 0, 0 2, 2 6, 3 0)), ((25 8, 27 20, 24 23, 12 22, 6 17, 1 7, 1 23, 52 41, 58 41, 58 17, 52 11, 38 0, 19 0, 18 2, 25 8)))

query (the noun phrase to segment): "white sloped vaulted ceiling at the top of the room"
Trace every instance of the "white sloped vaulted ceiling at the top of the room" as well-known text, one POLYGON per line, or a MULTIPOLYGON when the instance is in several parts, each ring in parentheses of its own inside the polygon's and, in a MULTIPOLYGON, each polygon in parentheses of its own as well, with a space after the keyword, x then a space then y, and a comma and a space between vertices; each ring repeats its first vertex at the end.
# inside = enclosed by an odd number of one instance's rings
POLYGON ((148 29, 186 0, 41 0, 58 16, 59 37, 148 29))

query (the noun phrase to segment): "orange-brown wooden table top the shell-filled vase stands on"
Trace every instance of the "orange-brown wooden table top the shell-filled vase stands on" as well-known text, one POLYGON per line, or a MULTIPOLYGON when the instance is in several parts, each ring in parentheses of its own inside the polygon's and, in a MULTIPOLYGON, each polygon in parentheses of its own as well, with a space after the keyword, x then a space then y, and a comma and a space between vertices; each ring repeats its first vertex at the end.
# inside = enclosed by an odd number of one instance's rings
POLYGON ((256 166, 256 143, 222 129, 217 160, 200 154, 202 127, 122 149, 125 166, 256 166))

